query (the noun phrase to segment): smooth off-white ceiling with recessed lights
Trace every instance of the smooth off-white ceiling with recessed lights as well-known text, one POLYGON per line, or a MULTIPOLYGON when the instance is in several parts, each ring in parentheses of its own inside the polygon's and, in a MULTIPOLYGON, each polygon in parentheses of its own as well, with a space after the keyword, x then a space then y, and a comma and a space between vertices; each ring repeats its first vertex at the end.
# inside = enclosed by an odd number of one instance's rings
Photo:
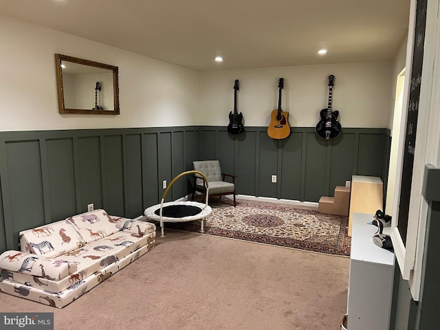
POLYGON ((409 8, 410 0, 0 0, 6 16, 199 71, 391 59, 409 8))

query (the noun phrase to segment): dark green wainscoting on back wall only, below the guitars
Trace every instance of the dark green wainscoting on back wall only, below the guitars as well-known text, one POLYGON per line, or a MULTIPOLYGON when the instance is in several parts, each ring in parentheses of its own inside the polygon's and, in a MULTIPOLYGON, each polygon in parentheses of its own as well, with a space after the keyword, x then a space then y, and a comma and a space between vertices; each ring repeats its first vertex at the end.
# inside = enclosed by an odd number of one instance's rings
POLYGON ((265 127, 230 135, 223 127, 201 126, 201 159, 219 159, 225 173, 238 176, 241 195, 318 201, 333 196, 351 175, 381 177, 386 184, 391 137, 387 129, 344 129, 322 140, 314 128, 292 128, 273 140, 265 127), (278 183, 271 181, 277 175, 278 183))

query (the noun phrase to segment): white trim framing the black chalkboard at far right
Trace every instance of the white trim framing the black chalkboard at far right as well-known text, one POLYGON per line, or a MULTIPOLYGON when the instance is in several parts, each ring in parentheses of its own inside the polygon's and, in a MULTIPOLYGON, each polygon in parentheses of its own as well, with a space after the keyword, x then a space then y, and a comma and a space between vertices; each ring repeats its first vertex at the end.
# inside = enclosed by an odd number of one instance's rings
MULTIPOLYGON (((406 136, 406 119, 408 109, 409 87, 412 68, 412 47, 414 43, 416 0, 411 0, 408 44, 406 55, 406 77, 404 103, 402 107, 401 132, 399 135, 399 155, 396 177, 401 177, 406 136)), ((428 0, 426 17, 425 48, 423 51, 423 69, 417 117, 417 139, 415 143, 410 206, 408 212, 408 230, 406 246, 397 228, 401 181, 396 180, 395 200, 393 205, 393 232, 391 239, 395 249, 397 263, 402 278, 409 281, 410 292, 414 300, 419 300, 423 248, 426 234, 426 217, 428 201, 421 195, 425 164, 439 167, 440 147, 440 25, 438 17, 439 0, 428 0)))

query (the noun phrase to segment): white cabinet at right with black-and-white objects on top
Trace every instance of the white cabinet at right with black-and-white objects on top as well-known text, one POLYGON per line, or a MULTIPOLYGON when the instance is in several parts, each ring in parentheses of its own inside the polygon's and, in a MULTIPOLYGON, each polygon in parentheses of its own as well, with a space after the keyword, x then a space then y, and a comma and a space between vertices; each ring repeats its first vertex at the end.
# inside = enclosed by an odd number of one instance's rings
POLYGON ((388 330, 390 323, 395 257, 373 243, 372 220, 373 214, 353 213, 348 330, 388 330))

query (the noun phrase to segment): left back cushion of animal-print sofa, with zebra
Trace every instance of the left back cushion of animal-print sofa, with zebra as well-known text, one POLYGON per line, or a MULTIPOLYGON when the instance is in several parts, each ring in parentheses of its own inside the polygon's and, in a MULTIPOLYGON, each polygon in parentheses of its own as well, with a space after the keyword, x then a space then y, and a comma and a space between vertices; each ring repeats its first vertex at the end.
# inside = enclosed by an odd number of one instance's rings
POLYGON ((60 256, 85 244, 80 234, 65 220, 23 230, 19 236, 22 252, 47 257, 60 256))

